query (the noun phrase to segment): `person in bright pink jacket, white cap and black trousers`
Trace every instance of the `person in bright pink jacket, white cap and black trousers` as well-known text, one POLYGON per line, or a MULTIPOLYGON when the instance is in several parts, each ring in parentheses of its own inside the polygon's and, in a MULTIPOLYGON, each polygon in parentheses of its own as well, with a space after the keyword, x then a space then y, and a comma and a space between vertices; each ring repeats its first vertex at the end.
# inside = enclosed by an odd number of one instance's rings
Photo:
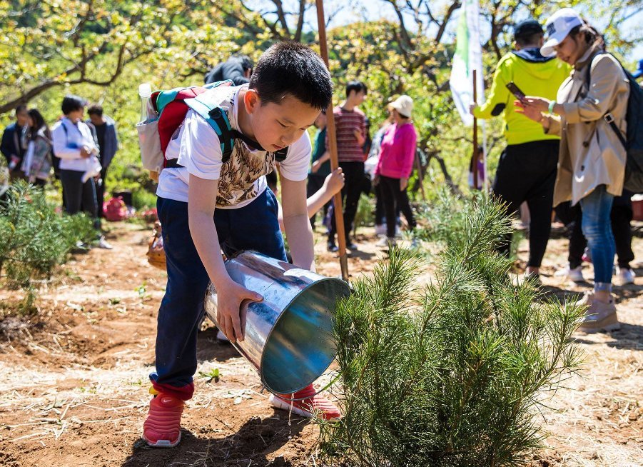
POLYGON ((384 212, 386 216, 386 238, 382 246, 395 245, 395 207, 400 207, 411 229, 415 218, 406 194, 409 177, 415 160, 417 132, 411 120, 413 101, 402 95, 389 105, 393 125, 389 126, 380 145, 380 159, 375 168, 374 184, 381 184, 384 212))

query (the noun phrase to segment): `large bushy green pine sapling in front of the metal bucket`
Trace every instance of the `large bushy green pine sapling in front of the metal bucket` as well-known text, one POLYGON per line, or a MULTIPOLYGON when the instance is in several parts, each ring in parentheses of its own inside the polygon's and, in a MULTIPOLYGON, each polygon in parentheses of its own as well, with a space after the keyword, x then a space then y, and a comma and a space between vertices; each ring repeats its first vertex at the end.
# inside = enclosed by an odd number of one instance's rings
POLYGON ((393 250, 335 314, 343 418, 321 449, 343 465, 514 466, 540 446, 535 416, 579 364, 582 311, 518 286, 495 241, 510 231, 488 199, 443 219, 437 279, 420 296, 420 260, 393 250), (444 236, 444 234, 442 234, 444 236))

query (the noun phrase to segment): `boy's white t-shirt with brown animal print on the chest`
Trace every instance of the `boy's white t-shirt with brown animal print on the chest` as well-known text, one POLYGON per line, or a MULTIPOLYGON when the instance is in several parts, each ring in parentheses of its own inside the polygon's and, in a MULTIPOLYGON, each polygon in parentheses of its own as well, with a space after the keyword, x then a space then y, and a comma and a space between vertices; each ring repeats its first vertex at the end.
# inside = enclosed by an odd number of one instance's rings
MULTIPOLYGON (((241 131, 237 124, 238 95, 244 87, 248 85, 207 91, 225 94, 221 107, 226 109, 231 127, 238 131, 241 131)), ((274 168, 274 153, 253 151, 243 141, 235 140, 230 159, 223 164, 216 132, 193 110, 188 110, 183 125, 175 135, 166 149, 166 158, 178 159, 178 164, 183 167, 161 171, 157 196, 187 203, 190 174, 201 179, 219 180, 217 209, 241 208, 265 191, 265 174, 274 168)), ((288 155, 280 163, 281 175, 285 179, 306 179, 311 147, 307 131, 289 146, 288 155)))

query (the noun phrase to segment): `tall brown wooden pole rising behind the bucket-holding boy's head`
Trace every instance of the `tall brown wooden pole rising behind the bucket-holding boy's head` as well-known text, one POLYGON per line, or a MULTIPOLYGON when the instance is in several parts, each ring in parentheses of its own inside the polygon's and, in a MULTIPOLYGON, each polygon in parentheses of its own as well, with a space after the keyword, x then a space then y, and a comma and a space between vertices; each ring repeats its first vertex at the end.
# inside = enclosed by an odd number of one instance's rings
MULTIPOLYGON (((323 0, 315 0, 317 5, 317 24, 319 29, 319 49, 322 59, 330 70, 328 64, 328 44, 326 42, 326 23, 324 16, 323 0)), ((337 157, 337 137, 335 133, 335 116, 333 115, 333 103, 331 102, 326 109, 326 131, 328 132, 328 151, 330 151, 330 169, 335 170, 339 167, 337 157)), ((344 226, 344 215, 342 209, 342 194, 337 193, 333 196, 333 206, 335 211, 335 226, 337 226, 337 240, 339 245, 340 268, 342 278, 348 282, 348 257, 346 256, 346 232, 344 226)))

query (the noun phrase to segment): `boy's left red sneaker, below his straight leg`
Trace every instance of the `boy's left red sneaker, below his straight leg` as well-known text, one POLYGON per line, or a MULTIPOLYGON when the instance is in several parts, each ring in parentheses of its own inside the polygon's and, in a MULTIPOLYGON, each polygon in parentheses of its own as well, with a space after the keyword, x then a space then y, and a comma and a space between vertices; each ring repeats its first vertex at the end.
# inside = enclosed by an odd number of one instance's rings
MULTIPOLYGON (((153 389, 150 390, 153 393, 153 389)), ((150 411, 143 423, 143 439, 153 448, 173 448, 181 441, 181 413, 184 402, 158 393, 150 401, 150 411)))

